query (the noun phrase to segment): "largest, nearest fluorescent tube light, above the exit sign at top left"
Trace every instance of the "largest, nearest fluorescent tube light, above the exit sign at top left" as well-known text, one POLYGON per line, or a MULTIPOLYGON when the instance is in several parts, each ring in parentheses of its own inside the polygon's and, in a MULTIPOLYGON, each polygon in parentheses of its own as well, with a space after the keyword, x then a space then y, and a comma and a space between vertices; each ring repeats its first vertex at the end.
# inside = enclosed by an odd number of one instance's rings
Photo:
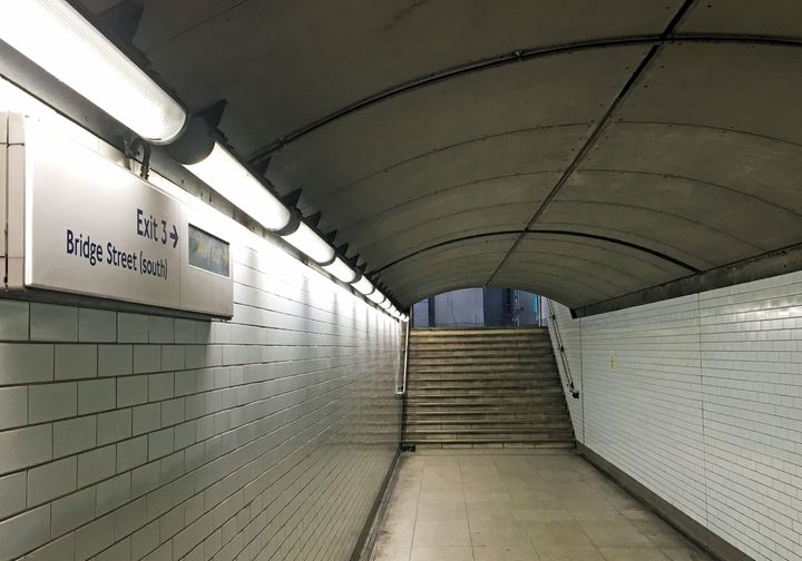
POLYGON ((4 6, 0 39, 147 140, 184 129, 184 108, 63 0, 4 6))

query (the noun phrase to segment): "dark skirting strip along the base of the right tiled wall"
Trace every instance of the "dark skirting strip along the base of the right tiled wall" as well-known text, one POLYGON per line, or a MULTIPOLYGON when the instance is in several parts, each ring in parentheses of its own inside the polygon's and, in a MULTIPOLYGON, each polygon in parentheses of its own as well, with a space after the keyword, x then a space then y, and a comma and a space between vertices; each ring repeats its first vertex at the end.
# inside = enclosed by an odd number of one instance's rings
POLYGON ((577 442, 577 452, 635 499, 646 504, 658 516, 676 528, 686 538, 720 561, 754 561, 732 543, 714 534, 683 511, 658 496, 634 478, 613 465, 599 454, 577 442))

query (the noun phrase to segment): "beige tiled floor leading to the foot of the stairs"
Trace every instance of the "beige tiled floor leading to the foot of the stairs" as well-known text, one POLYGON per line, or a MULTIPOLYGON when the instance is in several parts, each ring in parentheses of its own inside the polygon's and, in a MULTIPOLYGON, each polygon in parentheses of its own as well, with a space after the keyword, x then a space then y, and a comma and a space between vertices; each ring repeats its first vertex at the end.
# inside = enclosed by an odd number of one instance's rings
POLYGON ((401 462, 374 561, 712 561, 570 451, 401 462))

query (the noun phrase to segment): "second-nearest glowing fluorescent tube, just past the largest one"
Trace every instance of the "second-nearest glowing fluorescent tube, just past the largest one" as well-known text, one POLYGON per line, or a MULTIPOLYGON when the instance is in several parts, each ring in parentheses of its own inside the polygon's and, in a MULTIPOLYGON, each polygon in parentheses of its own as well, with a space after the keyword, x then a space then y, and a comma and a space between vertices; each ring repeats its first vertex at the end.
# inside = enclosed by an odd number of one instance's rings
POLYGON ((205 159, 185 167, 265 228, 290 223, 290 210, 219 142, 205 159))

